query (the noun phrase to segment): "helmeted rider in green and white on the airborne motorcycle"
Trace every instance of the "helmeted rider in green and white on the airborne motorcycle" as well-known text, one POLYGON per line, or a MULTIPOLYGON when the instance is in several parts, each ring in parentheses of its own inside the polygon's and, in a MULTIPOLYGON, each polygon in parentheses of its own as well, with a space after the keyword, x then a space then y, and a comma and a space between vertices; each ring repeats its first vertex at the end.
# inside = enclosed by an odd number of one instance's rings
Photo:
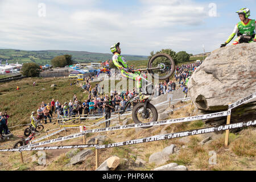
MULTIPOLYGON (((112 57, 114 65, 121 71, 121 75, 127 78, 130 78, 132 80, 137 81, 137 90, 139 94, 142 93, 142 78, 141 75, 139 75, 136 72, 133 72, 133 69, 131 69, 125 58, 121 56, 121 48, 119 47, 120 43, 118 42, 117 44, 114 44, 112 47, 110 47, 110 51, 114 54, 112 57)), ((148 98, 149 96, 141 95, 139 98, 140 100, 144 100, 148 98)))

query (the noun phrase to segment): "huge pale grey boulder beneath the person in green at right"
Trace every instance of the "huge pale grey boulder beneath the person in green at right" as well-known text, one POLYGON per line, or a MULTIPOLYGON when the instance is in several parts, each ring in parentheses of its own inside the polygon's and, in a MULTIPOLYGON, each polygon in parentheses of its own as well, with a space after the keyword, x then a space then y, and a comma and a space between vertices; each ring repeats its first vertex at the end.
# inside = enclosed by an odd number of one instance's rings
MULTIPOLYGON (((228 109, 256 91, 256 43, 227 46, 213 51, 188 81, 188 95, 201 114, 228 109)), ((256 99, 232 109, 232 122, 256 118, 256 99)), ((225 122, 223 118, 207 122, 225 122)))

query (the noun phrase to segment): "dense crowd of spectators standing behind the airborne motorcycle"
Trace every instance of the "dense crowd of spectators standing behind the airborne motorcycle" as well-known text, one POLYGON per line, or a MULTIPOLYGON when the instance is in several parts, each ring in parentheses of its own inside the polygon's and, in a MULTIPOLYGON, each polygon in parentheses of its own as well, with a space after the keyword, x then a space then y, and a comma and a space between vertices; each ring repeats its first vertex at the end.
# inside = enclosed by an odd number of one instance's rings
MULTIPOLYGON (((192 64, 183 64, 180 67, 177 66, 175 69, 175 81, 165 80, 155 85, 155 97, 162 94, 170 93, 179 88, 180 85, 188 80, 188 77, 192 75, 192 72, 201 64, 196 62, 192 64), (180 84, 180 85, 177 85, 180 84)), ((104 95, 104 86, 96 84, 92 87, 90 80, 93 78, 86 78, 86 81, 82 82, 81 86, 88 92, 88 98, 84 101, 78 100, 76 95, 73 96, 72 100, 61 104, 58 100, 55 102, 54 99, 51 103, 42 104, 39 106, 38 119, 44 119, 44 122, 52 122, 53 113, 57 114, 57 118, 68 118, 79 115, 89 114, 105 114, 106 118, 110 117, 109 112, 123 110, 127 102, 137 96, 137 90, 110 90, 110 96, 104 95)), ((131 109, 137 104, 138 100, 131 102, 127 109, 131 109)), ((106 126, 109 126, 106 123, 106 126)))

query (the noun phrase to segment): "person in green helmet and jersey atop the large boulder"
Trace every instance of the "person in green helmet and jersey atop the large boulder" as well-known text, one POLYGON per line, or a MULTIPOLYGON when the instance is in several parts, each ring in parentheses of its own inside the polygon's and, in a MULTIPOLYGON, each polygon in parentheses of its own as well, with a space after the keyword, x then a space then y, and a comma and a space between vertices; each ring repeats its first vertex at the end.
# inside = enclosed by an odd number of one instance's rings
POLYGON ((228 44, 236 34, 237 38, 234 40, 232 45, 241 43, 240 39, 242 35, 251 36, 251 39, 247 41, 248 43, 256 42, 256 22, 254 19, 248 18, 250 16, 250 10, 247 8, 242 8, 241 10, 238 10, 236 13, 238 13, 241 22, 236 24, 232 34, 229 36, 229 38, 226 40, 224 44, 221 44, 221 47, 225 47, 226 44, 228 44))

